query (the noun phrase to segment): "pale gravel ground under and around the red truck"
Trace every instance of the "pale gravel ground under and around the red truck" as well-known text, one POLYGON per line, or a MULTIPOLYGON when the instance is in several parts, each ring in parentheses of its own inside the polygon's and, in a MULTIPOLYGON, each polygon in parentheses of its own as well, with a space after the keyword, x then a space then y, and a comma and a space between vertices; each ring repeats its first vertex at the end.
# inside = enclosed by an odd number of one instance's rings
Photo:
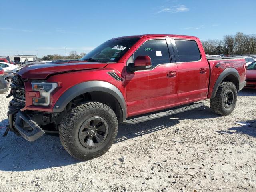
MULTIPOLYGON (((0 134, 8 101, 0 95, 0 134)), ((256 192, 256 90, 242 90, 232 114, 198 109, 120 125, 116 143, 87 162, 72 158, 56 136, 0 139, 0 191, 256 192), (243 121, 250 126, 234 122, 243 121)))

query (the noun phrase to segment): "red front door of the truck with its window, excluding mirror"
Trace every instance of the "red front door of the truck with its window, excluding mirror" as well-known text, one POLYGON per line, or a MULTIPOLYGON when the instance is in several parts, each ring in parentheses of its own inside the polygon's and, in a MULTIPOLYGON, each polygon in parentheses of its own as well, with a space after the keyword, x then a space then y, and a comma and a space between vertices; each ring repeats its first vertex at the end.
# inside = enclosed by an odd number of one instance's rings
POLYGON ((149 56, 152 67, 127 72, 126 98, 128 116, 168 108, 178 101, 177 65, 170 61, 168 39, 148 39, 140 45, 128 62, 137 56, 149 56))

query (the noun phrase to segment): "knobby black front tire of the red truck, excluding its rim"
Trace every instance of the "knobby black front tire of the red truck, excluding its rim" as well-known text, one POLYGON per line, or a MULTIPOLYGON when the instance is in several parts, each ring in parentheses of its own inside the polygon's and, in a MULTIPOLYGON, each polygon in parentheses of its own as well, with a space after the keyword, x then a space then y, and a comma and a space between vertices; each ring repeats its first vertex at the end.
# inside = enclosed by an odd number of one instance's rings
POLYGON ((65 150, 78 160, 90 160, 106 153, 115 141, 118 132, 118 120, 114 111, 99 102, 86 102, 72 108, 60 125, 60 141, 65 150), (96 148, 86 148, 79 140, 78 132, 83 122, 93 116, 104 118, 108 124, 108 134, 102 144, 96 148))

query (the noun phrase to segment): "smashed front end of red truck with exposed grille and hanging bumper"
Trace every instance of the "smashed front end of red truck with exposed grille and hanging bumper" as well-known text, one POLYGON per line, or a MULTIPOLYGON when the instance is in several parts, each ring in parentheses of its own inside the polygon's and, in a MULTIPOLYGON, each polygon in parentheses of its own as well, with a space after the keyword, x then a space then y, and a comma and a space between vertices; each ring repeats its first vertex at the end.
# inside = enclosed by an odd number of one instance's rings
POLYGON ((11 86, 12 89, 7 97, 13 96, 14 98, 9 102, 9 124, 4 136, 8 134, 8 131, 12 131, 28 141, 34 141, 45 134, 47 130, 58 131, 59 114, 31 110, 21 111, 25 107, 26 91, 24 81, 20 76, 13 76, 11 86))

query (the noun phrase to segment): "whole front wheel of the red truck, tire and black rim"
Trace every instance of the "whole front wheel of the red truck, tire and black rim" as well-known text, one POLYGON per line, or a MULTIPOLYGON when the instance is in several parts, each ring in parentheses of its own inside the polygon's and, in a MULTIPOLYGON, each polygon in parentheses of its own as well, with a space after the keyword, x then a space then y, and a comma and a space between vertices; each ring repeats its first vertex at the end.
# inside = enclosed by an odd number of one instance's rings
POLYGON ((118 120, 105 104, 87 102, 71 109, 60 125, 60 141, 78 160, 106 153, 115 141, 118 120))

